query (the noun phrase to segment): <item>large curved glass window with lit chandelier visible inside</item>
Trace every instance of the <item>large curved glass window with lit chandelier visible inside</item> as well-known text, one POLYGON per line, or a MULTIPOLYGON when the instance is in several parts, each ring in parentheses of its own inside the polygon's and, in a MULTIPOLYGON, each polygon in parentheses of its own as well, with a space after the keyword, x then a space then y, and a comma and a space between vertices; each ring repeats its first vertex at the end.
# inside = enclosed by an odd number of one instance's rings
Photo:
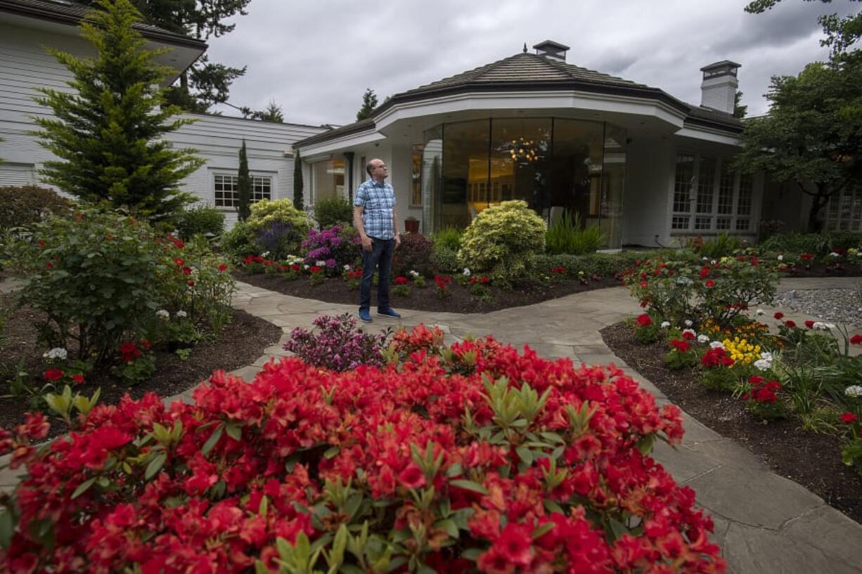
POLYGON ((603 228, 609 246, 620 246, 624 130, 558 118, 447 123, 440 156, 428 149, 440 136, 434 132, 422 153, 423 177, 442 159, 441 189, 430 207, 423 202, 434 228, 463 228, 489 205, 521 199, 551 224, 578 214, 582 225, 603 228))

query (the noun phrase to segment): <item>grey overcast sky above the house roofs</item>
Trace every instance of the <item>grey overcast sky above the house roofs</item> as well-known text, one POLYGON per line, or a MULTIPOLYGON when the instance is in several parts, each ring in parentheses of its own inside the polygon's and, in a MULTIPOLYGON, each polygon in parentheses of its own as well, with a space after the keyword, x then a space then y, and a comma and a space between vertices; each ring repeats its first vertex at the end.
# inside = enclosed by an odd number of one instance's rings
MULTIPOLYGON (((752 15, 746 0, 252 0, 230 34, 209 39, 210 59, 248 66, 230 102, 286 122, 355 121, 365 88, 384 97, 521 52, 544 40, 572 47, 566 61, 700 103, 700 68, 742 65, 742 103, 765 113, 772 75, 826 59, 817 16, 859 3, 784 0, 752 15)), ((223 107, 226 115, 235 111, 223 107)))

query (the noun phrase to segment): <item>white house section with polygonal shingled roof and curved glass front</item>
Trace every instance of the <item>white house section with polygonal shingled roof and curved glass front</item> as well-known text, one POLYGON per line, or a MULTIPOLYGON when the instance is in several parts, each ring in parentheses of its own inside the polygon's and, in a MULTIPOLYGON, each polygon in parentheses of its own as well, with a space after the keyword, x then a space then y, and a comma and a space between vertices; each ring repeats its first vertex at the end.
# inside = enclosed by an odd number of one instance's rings
MULTIPOLYGON (((727 232, 753 239, 763 178, 730 167, 739 64, 703 68, 703 102, 565 62, 557 42, 408 90, 372 118, 297 142, 311 197, 384 159, 404 215, 431 231, 526 200, 548 221, 577 212, 607 247, 727 232), (330 175, 336 174, 339 175, 330 175)), ((352 185, 347 184, 348 192, 352 185)), ((347 193, 345 193, 347 195, 347 193)))

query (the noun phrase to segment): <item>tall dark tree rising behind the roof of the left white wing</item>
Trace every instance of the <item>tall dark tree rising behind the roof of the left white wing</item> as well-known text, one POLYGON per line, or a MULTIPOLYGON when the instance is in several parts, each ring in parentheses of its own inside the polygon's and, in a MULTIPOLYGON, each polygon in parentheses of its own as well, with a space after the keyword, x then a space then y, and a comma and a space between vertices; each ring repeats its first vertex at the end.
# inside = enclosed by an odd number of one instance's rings
MULTIPOLYGON (((79 0, 98 6, 100 0, 79 0)), ((208 40, 233 31, 235 23, 225 23, 236 15, 245 16, 251 0, 134 0, 144 19, 154 26, 176 34, 208 40)), ((168 103, 192 112, 203 113, 214 103, 226 103, 230 84, 246 73, 246 66, 235 68, 209 61, 204 54, 191 68, 180 74, 178 85, 166 91, 168 103)))

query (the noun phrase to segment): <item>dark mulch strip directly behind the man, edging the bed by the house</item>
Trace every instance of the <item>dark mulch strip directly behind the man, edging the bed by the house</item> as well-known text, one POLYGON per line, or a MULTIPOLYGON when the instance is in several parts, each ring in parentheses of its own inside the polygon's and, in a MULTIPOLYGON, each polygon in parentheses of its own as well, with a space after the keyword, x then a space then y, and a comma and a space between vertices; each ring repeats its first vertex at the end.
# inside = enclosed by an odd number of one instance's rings
MULTIPOLYGON (((284 279, 277 275, 248 274, 237 272, 234 276, 240 281, 263 289, 278 291, 284 295, 316 299, 327 303, 359 303, 359 289, 350 289, 342 278, 328 278, 321 284, 312 285, 307 278, 284 279)), ((565 279, 553 284, 539 281, 516 284, 514 289, 503 290, 488 287, 490 301, 474 296, 471 291, 453 279, 449 284, 450 295, 442 299, 437 296, 434 279, 428 279, 424 287, 410 286, 409 296, 397 296, 390 290, 390 303, 395 309, 415 309, 418 311, 437 311, 444 313, 488 313, 498 309, 532 305, 548 299, 572 295, 594 289, 615 287, 619 280, 612 277, 601 278, 581 284, 575 279, 565 279)), ((372 289, 372 309, 377 307, 377 287, 372 289)))

